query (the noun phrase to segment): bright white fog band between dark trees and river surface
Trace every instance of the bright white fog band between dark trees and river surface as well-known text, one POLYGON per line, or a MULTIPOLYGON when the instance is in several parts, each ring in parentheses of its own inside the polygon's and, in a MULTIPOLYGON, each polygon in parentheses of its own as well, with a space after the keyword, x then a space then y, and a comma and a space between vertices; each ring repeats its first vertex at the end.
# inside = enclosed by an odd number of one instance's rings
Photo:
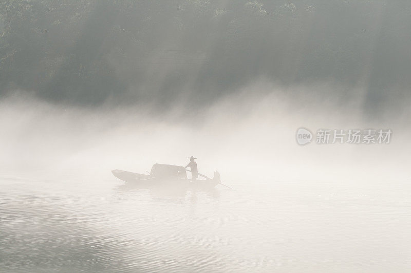
POLYGON ((185 158, 194 155, 202 172, 218 170, 234 184, 408 179, 408 116, 368 118, 361 102, 342 104, 338 97, 305 95, 331 88, 338 87, 295 86, 290 96, 290 90, 260 80, 202 111, 176 104, 165 114, 150 105, 88 109, 20 93, 1 102, 1 126, 7 132, 1 139, 2 165, 22 173, 108 176, 112 169, 145 173, 154 163, 185 165, 185 158), (391 129, 393 140, 301 147, 295 140, 300 127, 312 132, 391 129))

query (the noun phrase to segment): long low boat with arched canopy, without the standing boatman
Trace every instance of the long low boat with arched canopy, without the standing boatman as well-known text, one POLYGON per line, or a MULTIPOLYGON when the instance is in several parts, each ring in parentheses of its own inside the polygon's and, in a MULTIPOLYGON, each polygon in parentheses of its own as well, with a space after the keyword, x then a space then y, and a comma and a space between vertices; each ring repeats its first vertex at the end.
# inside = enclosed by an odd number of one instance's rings
POLYGON ((133 184, 140 188, 157 187, 157 186, 173 186, 182 188, 213 188, 221 182, 220 174, 214 172, 214 177, 209 178, 204 175, 200 175, 205 179, 193 180, 187 177, 188 170, 185 170, 183 166, 166 165, 166 164, 154 164, 150 174, 138 174, 122 170, 113 170, 113 175, 127 184, 133 184))

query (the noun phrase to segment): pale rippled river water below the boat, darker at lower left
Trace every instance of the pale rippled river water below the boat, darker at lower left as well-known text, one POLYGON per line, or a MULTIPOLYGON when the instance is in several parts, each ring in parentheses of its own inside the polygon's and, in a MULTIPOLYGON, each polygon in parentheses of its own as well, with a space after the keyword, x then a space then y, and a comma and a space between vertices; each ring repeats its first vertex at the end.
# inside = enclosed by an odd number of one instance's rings
POLYGON ((2 273, 411 270, 406 183, 173 191, 109 175, 0 177, 2 273))

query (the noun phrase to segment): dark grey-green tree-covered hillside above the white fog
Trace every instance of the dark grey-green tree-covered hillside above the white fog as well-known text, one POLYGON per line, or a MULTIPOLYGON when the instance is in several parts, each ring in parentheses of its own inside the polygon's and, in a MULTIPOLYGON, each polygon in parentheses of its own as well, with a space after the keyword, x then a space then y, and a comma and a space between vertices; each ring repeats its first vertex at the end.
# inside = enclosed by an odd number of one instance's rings
POLYGON ((257 77, 407 87, 411 2, 2 0, 0 94, 215 98, 257 77))

